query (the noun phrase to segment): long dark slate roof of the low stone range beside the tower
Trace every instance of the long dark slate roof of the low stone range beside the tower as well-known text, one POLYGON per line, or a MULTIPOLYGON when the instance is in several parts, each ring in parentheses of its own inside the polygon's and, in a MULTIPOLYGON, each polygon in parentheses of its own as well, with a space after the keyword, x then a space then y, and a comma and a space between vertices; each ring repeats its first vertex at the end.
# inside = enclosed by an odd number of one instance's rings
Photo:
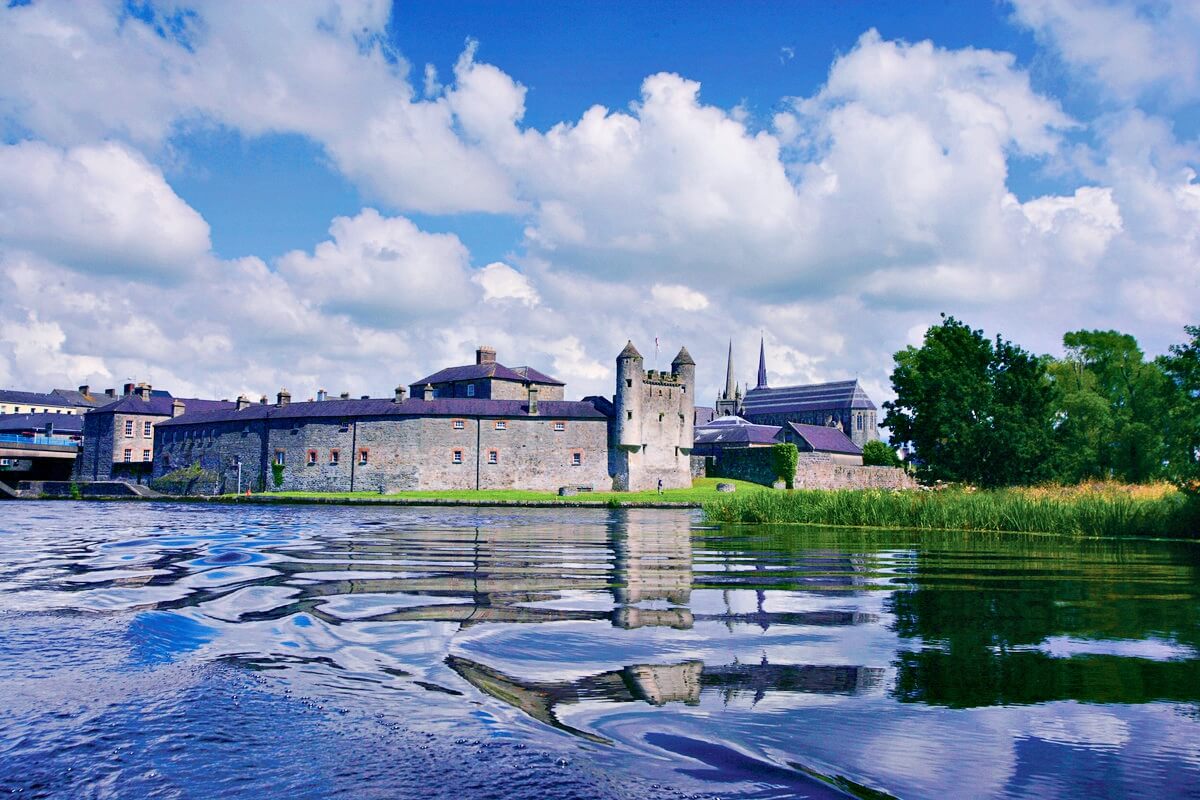
MULTIPOLYGON (((511 420, 529 415, 529 404, 524 401, 481 397, 437 397, 431 401, 409 397, 402 403, 386 397, 331 399, 288 403, 282 407, 256 403, 240 411, 235 409, 233 403, 228 405, 227 409, 187 411, 181 416, 160 422, 157 427, 250 422, 252 420, 349 419, 355 416, 479 416, 511 420)), ((553 420, 607 419, 602 411, 586 401, 539 401, 538 417, 553 420)))

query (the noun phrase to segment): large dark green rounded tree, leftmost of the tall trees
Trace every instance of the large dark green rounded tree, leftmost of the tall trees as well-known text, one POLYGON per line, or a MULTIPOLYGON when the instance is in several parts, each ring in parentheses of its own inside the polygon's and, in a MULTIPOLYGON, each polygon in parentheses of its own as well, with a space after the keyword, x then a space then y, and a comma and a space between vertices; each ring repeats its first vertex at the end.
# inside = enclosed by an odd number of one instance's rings
POLYGON ((923 480, 1007 486, 1049 474, 1052 389, 1042 359, 953 317, 895 354, 883 407, 892 444, 923 480))

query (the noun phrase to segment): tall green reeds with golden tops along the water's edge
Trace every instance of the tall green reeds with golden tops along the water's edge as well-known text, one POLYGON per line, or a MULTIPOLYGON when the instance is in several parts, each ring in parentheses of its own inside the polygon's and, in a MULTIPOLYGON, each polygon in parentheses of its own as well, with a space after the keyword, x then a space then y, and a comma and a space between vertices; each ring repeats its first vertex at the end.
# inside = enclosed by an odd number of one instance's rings
POLYGON ((796 491, 704 503, 716 523, 774 523, 1070 534, 1200 536, 1200 501, 1169 487, 1048 487, 972 492, 796 491))

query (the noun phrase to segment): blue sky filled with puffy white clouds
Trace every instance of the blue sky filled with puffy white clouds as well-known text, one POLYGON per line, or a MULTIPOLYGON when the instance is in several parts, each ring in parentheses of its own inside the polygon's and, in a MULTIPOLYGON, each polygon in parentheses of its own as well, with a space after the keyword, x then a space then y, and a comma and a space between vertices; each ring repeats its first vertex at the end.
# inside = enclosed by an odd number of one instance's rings
POLYGON ((386 393, 488 342, 583 395, 659 337, 707 396, 764 335, 882 401, 943 311, 1162 351, 1196 41, 1133 0, 11 4, 0 383, 386 393))

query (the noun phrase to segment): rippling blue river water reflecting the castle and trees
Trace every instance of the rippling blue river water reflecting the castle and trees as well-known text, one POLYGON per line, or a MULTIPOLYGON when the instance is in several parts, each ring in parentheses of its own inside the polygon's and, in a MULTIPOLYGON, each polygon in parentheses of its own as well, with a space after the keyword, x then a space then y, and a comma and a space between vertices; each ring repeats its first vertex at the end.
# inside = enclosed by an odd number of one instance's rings
POLYGON ((1200 796, 1200 545, 0 505, 0 794, 1200 796))

